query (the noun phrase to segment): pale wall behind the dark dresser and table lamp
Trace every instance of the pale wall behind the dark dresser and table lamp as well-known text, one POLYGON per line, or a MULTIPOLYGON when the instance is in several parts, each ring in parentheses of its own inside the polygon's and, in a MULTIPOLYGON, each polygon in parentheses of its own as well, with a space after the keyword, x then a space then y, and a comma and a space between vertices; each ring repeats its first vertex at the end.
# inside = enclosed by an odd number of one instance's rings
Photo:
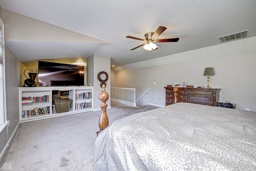
POLYGON ((204 68, 213 67, 215 76, 210 77, 209 85, 212 88, 221 88, 219 101, 228 100, 237 104, 236 109, 250 108, 251 111, 256 111, 255 56, 256 51, 122 70, 116 72, 116 87, 136 88, 136 98, 151 87, 137 105, 165 105, 164 86, 174 85, 174 82, 187 82, 187 85, 194 87, 207 86, 207 77, 203 76, 204 68))

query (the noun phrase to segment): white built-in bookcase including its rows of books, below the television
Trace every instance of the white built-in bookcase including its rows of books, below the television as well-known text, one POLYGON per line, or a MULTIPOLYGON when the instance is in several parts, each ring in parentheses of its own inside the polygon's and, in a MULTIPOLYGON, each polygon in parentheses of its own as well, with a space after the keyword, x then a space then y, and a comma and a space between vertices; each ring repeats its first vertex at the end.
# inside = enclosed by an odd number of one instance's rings
POLYGON ((93 87, 19 87, 20 121, 32 121, 93 110, 93 87), (54 99, 70 99, 70 109, 54 110, 54 99))

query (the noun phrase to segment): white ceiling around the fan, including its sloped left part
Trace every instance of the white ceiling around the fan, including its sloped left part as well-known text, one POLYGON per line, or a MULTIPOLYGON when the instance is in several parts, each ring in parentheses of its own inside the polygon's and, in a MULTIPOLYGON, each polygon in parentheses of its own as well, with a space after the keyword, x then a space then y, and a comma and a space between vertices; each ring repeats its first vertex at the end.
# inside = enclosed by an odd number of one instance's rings
POLYGON ((110 57, 115 66, 150 60, 150 52, 143 46, 130 51, 144 42, 126 36, 144 39, 145 33, 155 32, 158 26, 167 27, 158 39, 180 40, 156 43, 158 50, 151 59, 217 45, 217 37, 247 29, 249 37, 256 36, 256 0, 0 0, 0 5, 103 40, 33 42, 6 38, 6 46, 21 61, 87 58, 92 54, 110 57))

